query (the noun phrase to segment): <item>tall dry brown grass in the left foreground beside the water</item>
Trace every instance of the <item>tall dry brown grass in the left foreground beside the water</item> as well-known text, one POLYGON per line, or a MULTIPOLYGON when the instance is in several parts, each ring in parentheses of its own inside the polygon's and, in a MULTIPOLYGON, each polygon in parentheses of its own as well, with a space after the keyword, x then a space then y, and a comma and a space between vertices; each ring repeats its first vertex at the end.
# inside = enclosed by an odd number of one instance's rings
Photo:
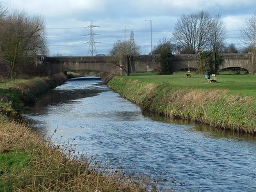
POLYGON ((147 180, 102 169, 74 148, 52 145, 0 115, 0 191, 148 191, 147 180))

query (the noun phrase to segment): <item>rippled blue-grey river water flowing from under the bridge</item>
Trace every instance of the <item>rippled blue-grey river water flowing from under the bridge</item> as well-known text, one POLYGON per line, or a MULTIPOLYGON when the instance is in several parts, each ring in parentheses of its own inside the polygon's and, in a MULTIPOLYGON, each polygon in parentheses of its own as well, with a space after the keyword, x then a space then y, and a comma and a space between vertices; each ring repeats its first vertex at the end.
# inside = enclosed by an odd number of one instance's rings
POLYGON ((71 141, 77 152, 125 173, 164 178, 178 191, 256 191, 253 138, 164 120, 100 79, 67 81, 23 112, 52 141, 71 141))

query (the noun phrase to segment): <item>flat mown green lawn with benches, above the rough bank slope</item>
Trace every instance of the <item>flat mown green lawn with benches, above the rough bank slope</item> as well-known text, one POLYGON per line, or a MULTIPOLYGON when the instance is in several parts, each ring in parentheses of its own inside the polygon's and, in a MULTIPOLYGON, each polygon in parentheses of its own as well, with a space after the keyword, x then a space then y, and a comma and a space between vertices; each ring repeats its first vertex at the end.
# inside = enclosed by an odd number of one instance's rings
POLYGON ((144 83, 169 84, 170 86, 186 86, 189 88, 221 89, 227 90, 228 94, 240 95, 242 97, 252 96, 256 98, 256 76, 255 75, 218 75, 217 83, 207 83, 202 74, 191 74, 184 77, 184 73, 175 72, 173 75, 156 74, 132 74, 125 76, 126 79, 138 79, 144 83))

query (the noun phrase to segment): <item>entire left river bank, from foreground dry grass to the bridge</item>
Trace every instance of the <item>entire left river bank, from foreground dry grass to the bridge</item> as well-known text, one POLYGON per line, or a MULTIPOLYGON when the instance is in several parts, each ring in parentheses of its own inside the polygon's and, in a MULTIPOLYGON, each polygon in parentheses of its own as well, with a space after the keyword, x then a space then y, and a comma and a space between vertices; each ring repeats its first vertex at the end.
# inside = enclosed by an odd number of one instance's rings
POLYGON ((148 191, 143 179, 129 179, 101 168, 94 159, 74 157, 74 148, 63 149, 40 138, 25 125, 10 120, 17 109, 66 81, 65 76, 17 79, 0 83, 0 192, 3 191, 148 191))

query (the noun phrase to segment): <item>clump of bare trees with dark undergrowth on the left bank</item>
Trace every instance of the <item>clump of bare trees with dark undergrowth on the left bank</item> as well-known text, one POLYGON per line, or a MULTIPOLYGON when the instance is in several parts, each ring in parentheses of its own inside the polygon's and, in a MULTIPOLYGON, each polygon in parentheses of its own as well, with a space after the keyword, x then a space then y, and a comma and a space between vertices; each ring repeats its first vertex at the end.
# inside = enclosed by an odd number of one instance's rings
POLYGON ((45 23, 39 15, 9 12, 0 4, 0 61, 10 66, 10 77, 38 74, 38 55, 47 54, 45 23))

